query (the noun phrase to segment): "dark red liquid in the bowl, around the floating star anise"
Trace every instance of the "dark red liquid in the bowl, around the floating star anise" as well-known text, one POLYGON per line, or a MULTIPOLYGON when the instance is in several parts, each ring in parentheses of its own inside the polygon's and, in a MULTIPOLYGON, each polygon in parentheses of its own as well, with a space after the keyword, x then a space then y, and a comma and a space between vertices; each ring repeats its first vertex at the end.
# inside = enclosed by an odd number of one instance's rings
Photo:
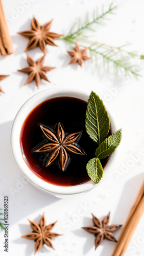
MULTIPOLYGON (((59 186, 74 186, 90 180, 86 171, 87 162, 95 157, 97 143, 92 141, 85 131, 85 113, 87 102, 73 97, 57 97, 37 105, 22 124, 20 145, 23 158, 29 168, 42 180, 59 186), (43 136, 39 125, 56 131, 61 122, 65 133, 83 131, 78 144, 86 155, 69 154, 66 170, 62 172, 58 160, 45 167, 44 160, 49 153, 34 153, 39 144, 49 143, 43 136)), ((59 158, 57 158, 59 159, 59 158)), ((101 161, 104 167, 108 158, 101 161)))

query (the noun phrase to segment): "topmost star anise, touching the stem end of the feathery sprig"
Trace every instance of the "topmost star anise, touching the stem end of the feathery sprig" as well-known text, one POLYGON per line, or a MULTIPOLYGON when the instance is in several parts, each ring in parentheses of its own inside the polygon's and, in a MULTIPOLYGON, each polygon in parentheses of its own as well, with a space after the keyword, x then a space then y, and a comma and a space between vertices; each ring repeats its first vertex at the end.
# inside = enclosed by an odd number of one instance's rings
POLYGON ((54 38, 57 38, 62 35, 49 31, 52 25, 52 21, 53 20, 45 23, 43 26, 40 26, 35 17, 33 17, 31 22, 32 30, 18 32, 18 34, 30 38, 29 44, 25 52, 35 48, 36 46, 39 46, 40 49, 44 52, 44 54, 46 54, 46 44, 51 46, 57 46, 55 45, 54 38))

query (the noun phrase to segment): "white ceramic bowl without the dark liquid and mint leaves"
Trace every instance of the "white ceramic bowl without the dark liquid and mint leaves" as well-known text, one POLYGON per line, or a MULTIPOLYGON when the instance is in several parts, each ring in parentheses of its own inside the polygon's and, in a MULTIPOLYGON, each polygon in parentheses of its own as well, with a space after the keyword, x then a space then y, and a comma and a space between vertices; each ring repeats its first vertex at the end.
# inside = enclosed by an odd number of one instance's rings
MULTIPOLYGON (((22 157, 19 136, 21 131, 21 126, 23 121, 26 119, 28 114, 35 108, 36 105, 50 98, 61 97, 61 96, 70 96, 79 99, 83 99, 88 101, 90 95, 90 91, 85 91, 78 88, 67 89, 67 88, 51 88, 44 90, 42 92, 37 93, 30 99, 28 99, 18 111, 11 130, 11 148, 14 159, 21 170, 22 174, 37 188, 40 188, 47 193, 51 193, 58 198, 64 198, 67 196, 74 196, 81 193, 85 193, 86 191, 91 190, 94 187, 98 187, 101 182, 103 182, 112 170, 112 166, 117 158, 118 148, 112 153, 110 156, 106 166, 104 167, 103 178, 99 184, 95 184, 93 181, 88 181, 84 184, 76 185, 76 186, 57 186, 43 181, 38 178, 28 167, 25 160, 22 157)), ((107 107, 106 107, 107 109, 107 107)), ((110 128, 111 132, 114 133, 118 130, 117 124, 111 114, 111 112, 107 109, 109 117, 110 117, 110 128)))

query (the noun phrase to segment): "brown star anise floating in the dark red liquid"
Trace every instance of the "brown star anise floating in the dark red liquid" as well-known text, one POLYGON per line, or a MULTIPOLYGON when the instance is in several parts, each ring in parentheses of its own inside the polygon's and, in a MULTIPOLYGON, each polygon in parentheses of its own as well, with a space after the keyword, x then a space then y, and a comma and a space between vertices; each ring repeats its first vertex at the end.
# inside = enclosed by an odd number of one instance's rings
POLYGON ((45 138, 51 142, 51 143, 46 143, 40 146, 38 150, 34 151, 34 152, 44 152, 44 153, 52 152, 52 154, 49 156, 47 160, 45 167, 53 163, 59 156, 59 163, 60 163, 61 169, 64 171, 67 160, 68 160, 67 152, 73 153, 73 154, 85 155, 78 147, 78 144, 75 143, 82 132, 65 135, 65 132, 60 122, 58 123, 57 135, 55 135, 52 131, 50 131, 49 129, 46 129, 42 125, 40 125, 40 128, 45 138))

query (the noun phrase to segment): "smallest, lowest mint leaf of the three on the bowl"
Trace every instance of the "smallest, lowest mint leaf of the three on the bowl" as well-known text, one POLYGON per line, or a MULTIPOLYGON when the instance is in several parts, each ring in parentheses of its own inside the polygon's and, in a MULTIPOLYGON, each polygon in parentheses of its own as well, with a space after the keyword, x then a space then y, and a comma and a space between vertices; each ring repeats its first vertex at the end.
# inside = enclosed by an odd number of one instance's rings
POLYGON ((89 178, 95 183, 99 183, 103 177, 103 167, 99 158, 92 158, 86 165, 89 178))

